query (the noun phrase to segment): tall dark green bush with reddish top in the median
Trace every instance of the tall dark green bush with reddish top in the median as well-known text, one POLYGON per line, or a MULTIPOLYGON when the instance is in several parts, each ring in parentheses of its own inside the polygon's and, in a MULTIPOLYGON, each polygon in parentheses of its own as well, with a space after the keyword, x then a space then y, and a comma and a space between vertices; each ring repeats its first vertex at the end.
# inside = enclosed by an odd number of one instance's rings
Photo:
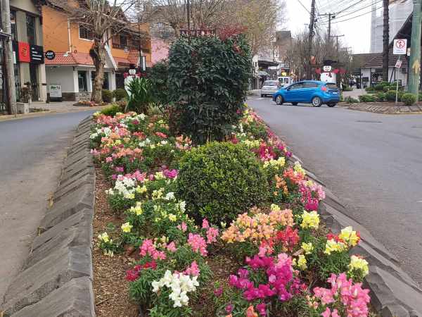
POLYGON ((251 76, 250 46, 243 35, 179 37, 169 54, 172 130, 194 144, 222 141, 238 124, 251 76))

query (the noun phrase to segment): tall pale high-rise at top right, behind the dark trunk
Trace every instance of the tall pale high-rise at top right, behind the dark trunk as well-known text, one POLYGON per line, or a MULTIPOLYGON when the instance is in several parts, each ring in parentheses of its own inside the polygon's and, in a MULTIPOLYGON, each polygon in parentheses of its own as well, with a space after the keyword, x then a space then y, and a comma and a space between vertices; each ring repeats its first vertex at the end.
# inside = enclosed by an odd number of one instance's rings
MULTIPOLYGON (((383 51, 383 8, 379 4, 380 1, 372 1, 370 51, 371 53, 380 53, 383 51), (378 6, 381 6, 381 8, 378 8, 378 6)), ((388 6, 390 39, 395 37, 412 11, 413 0, 390 0, 390 5, 388 6)))

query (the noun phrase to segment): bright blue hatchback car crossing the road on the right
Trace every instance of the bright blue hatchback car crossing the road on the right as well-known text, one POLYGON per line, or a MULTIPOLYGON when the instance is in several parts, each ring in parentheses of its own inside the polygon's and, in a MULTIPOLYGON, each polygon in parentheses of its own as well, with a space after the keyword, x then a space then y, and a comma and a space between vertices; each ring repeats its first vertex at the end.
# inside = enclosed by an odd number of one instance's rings
POLYGON ((276 104, 290 102, 294 106, 298 103, 305 103, 312 104, 314 107, 320 107, 321 104, 333 107, 340 101, 340 91, 331 82, 304 80, 283 87, 273 94, 273 100, 276 101, 276 104))

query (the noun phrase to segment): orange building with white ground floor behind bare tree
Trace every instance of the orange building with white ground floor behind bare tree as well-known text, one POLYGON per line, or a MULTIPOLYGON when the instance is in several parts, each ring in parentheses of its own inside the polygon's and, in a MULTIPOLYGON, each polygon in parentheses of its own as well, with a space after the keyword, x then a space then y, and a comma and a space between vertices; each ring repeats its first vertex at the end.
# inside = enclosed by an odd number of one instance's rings
MULTIPOLYGON (((46 59, 47 87, 60 87, 64 100, 90 99, 95 77, 94 62, 89 55, 93 35, 73 23, 58 6, 42 6, 42 15, 44 49, 54 52, 54 58, 46 59)), ((131 64, 139 66, 142 62, 143 66, 151 66, 148 25, 141 25, 140 35, 137 24, 127 23, 129 27, 111 37, 106 45, 103 89, 123 88, 124 73, 131 64)))

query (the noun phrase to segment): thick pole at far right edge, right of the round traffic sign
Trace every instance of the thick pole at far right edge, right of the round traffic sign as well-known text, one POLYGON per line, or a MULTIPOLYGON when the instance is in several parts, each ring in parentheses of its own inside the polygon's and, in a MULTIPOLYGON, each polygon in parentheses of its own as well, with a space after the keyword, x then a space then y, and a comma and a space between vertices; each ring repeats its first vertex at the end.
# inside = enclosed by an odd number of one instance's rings
POLYGON ((422 0, 414 0, 413 18, 411 20, 409 92, 416 95, 416 100, 418 100, 419 78, 421 76, 421 6, 422 0))

